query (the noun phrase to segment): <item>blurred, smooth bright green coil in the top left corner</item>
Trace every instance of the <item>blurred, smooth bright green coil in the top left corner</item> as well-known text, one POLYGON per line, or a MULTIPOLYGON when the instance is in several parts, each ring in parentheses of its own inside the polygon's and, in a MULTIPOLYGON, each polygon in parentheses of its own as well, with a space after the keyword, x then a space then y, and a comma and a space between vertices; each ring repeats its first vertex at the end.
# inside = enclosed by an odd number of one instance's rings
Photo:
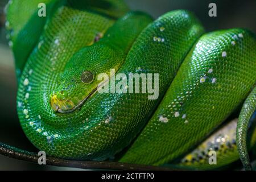
POLYGON ((6 30, 7 36, 10 39, 9 45, 14 52, 16 76, 18 79, 21 76, 28 56, 38 43, 46 23, 46 17, 38 16, 38 5, 39 3, 45 3, 47 13, 51 13, 56 2, 53 0, 35 0, 31 1, 30 5, 27 5, 27 1, 9 1, 7 4, 8 21, 6 22, 6 30))

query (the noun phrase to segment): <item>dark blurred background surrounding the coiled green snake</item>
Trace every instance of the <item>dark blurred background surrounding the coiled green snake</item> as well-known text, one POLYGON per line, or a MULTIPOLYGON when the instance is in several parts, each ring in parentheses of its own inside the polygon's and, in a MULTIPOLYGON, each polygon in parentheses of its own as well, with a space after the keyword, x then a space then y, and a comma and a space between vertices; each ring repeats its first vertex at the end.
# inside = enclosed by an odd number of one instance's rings
MULTIPOLYGON (((207 31, 244 27, 256 32, 256 0, 126 0, 126 2, 132 10, 146 11, 155 18, 175 9, 190 10, 201 20, 207 31), (217 17, 208 16, 208 5, 211 2, 217 5, 217 17)), ((3 7, 6 3, 7 0, 0 0, 0 142, 37 151, 23 134, 16 114, 14 61, 7 46, 4 28, 3 7)), ((67 170, 71 168, 39 166, 0 156, 0 170, 10 169, 67 170)))

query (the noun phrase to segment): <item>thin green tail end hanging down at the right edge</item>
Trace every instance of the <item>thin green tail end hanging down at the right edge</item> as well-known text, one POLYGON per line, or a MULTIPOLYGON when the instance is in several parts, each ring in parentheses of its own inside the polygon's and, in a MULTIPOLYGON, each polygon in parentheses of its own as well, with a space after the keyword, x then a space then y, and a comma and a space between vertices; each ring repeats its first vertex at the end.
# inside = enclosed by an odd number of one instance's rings
POLYGON ((250 158, 247 151, 247 143, 249 142, 249 148, 251 144, 255 143, 255 135, 252 135, 252 139, 247 140, 247 129, 250 125, 250 118, 256 110, 256 87, 247 97, 245 103, 243 104, 239 121, 237 123, 237 147, 240 155, 240 159, 243 163, 243 166, 247 170, 251 170, 250 158))

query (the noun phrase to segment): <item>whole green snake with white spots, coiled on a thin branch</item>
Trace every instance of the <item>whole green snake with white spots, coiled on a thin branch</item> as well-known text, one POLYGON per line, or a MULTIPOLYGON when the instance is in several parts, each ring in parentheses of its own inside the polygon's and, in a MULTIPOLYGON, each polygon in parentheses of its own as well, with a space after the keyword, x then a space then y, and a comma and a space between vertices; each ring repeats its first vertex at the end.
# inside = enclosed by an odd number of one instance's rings
POLYGON ((6 28, 27 138, 63 159, 213 169, 241 157, 250 169, 255 34, 243 28, 205 34, 186 10, 156 20, 128 11, 119 0, 9 2, 6 28), (46 17, 38 15, 42 2, 46 17), (150 79, 159 82, 158 97, 98 93, 101 73, 110 80, 118 73, 156 73, 159 79, 150 79), (239 119, 219 129, 244 101, 239 119), (217 165, 206 164, 210 150, 217 150, 217 165))

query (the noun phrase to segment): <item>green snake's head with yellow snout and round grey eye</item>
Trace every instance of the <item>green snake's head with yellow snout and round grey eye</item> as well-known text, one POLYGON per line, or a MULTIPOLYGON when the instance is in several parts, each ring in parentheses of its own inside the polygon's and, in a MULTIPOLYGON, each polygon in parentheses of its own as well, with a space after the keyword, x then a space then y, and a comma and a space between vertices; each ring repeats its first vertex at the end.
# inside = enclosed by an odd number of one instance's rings
MULTIPOLYGON (((121 56, 122 57, 122 56, 121 56)), ((55 112, 71 113, 97 92, 100 73, 110 76, 110 69, 119 68, 120 55, 108 46, 94 44, 77 52, 65 65, 57 88, 50 96, 50 105, 55 112)))

